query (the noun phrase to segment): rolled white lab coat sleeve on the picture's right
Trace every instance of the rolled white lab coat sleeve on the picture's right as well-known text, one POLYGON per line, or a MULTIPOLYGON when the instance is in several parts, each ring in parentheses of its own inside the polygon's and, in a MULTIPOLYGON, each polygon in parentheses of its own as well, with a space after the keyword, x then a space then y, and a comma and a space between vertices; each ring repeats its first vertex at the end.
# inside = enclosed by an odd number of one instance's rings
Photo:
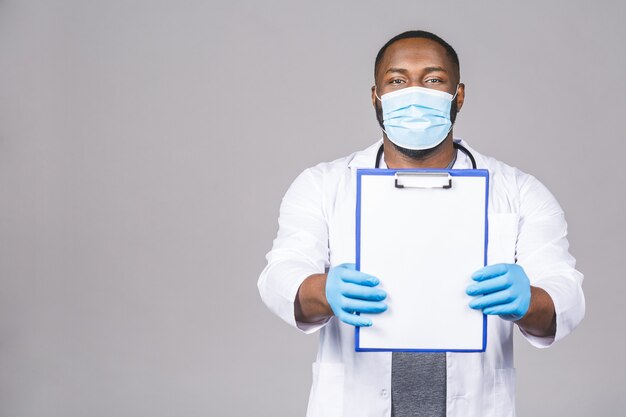
POLYGON ((567 336, 585 315, 583 275, 569 253, 567 223, 554 196, 536 178, 520 180, 520 224, 516 260, 531 285, 544 289, 556 310, 556 334, 537 337, 522 330, 524 337, 539 348, 551 346, 567 336))

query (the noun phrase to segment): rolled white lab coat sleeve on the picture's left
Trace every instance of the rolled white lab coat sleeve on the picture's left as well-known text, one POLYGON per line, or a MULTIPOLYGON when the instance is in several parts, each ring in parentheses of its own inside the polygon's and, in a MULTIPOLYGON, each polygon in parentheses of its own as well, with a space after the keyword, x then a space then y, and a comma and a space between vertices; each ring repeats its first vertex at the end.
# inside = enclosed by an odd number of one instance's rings
POLYGON ((300 284, 328 267, 328 225, 323 207, 323 171, 310 168, 296 178, 282 200, 278 234, 258 280, 259 293, 267 307, 305 333, 328 322, 296 322, 294 312, 300 284))

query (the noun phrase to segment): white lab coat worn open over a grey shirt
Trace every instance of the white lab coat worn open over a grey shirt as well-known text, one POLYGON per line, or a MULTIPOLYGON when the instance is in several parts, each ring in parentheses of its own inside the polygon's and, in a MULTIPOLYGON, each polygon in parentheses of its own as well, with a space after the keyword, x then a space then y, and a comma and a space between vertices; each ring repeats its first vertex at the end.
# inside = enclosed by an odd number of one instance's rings
MULTIPOLYGON (((488 263, 517 262, 531 284, 554 301, 556 336, 524 334, 532 345, 548 347, 570 333, 585 313, 583 276, 568 252, 563 211, 537 179, 461 143, 478 168, 490 173, 488 263)), ((305 333, 320 330, 308 417, 391 413, 391 353, 355 352, 354 327, 335 317, 315 324, 297 323, 294 317, 294 300, 305 278, 355 262, 356 170, 374 167, 380 144, 298 176, 283 198, 278 235, 259 277, 261 298, 271 311, 305 333)), ((458 152, 454 168, 471 168, 469 158, 458 152)), ((489 316, 487 329, 486 352, 446 355, 450 417, 515 415, 514 325, 489 316)))

